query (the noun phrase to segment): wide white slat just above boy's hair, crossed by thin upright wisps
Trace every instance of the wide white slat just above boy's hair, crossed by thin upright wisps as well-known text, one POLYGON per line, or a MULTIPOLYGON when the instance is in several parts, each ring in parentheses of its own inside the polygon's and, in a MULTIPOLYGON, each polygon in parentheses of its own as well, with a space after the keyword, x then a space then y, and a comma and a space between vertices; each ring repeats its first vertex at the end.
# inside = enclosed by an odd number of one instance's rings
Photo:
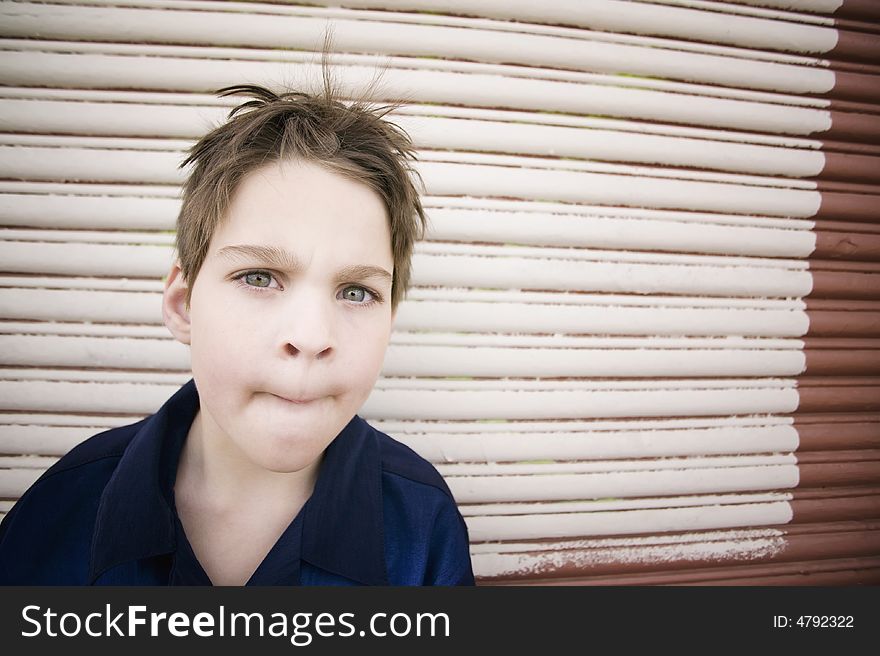
MULTIPOLYGON (((203 52, 205 49, 196 50, 207 55, 203 52)), ((280 56, 273 53, 273 57, 280 56)), ((293 66, 277 60, 231 60, 226 55, 222 61, 165 57, 162 65, 156 63, 151 57, 7 51, 0 54, 0 76, 7 84, 16 86, 134 87, 201 93, 244 80, 270 87, 283 82, 309 88, 310 79, 320 79, 315 65, 306 61, 293 66)), ((474 66, 469 65, 469 70, 474 66)), ((375 69, 338 66, 336 72, 341 88, 354 90, 365 88, 375 69)), ((383 90, 387 96, 407 97, 421 103, 460 104, 462 98, 467 98, 469 105, 477 107, 597 114, 803 136, 831 127, 830 113, 826 109, 602 86, 581 81, 524 79, 511 77, 510 72, 505 69, 504 74, 489 75, 389 68, 382 78, 383 90)), ((621 81, 629 79, 617 77, 615 84, 620 85, 621 81)))

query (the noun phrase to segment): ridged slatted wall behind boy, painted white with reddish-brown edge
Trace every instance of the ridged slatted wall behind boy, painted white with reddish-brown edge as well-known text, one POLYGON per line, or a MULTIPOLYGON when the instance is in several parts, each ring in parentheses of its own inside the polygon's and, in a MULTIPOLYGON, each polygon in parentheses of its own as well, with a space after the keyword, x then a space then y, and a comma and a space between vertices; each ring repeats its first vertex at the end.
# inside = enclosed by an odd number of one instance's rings
POLYGON ((0 3, 0 512, 189 378, 177 165, 330 25, 432 224, 361 414, 478 581, 880 582, 880 5, 336 4, 0 3))

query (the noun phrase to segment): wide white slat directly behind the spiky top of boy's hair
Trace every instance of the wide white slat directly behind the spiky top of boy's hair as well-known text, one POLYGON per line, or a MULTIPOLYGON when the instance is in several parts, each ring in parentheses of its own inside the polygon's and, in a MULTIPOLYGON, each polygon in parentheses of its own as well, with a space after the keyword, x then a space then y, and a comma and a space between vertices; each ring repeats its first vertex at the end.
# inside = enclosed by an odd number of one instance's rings
MULTIPOLYGON (((9 132, 196 138, 222 122, 227 108, 5 99, 0 100, 0 111, 0 128, 9 132)), ((392 120, 412 136, 419 148, 639 162, 791 177, 818 175, 825 162, 821 152, 619 130, 407 115, 393 116, 392 120)))

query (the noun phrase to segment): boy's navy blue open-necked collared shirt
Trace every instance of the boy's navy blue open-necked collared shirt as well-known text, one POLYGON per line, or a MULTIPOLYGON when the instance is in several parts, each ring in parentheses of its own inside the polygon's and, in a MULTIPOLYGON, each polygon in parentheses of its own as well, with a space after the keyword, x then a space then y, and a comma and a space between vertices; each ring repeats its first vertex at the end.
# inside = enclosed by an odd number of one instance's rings
MULTIPOLYGON (((190 380, 46 471, 0 524, 0 584, 211 585, 174 505, 198 407, 190 380)), ((355 416, 247 584, 471 585, 467 528, 437 470, 355 416)))

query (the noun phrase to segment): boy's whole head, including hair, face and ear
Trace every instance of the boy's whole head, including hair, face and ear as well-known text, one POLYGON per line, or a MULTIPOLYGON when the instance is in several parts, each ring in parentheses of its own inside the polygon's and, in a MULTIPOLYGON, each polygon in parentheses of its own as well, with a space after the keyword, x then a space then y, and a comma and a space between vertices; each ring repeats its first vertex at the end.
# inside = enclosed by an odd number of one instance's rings
POLYGON ((193 430, 293 472, 372 390, 424 215, 412 146, 379 113, 246 90, 187 160, 163 313, 190 345, 193 430))

